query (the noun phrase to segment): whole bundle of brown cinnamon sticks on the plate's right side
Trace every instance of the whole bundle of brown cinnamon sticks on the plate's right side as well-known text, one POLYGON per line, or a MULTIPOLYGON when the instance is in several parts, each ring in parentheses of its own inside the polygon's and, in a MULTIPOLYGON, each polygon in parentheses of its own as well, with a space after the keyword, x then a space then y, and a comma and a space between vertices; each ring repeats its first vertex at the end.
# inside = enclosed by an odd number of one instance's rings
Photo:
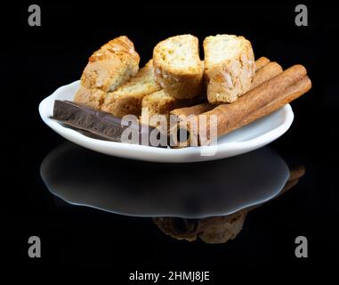
POLYGON ((229 134, 241 126, 262 118, 275 110, 280 109, 289 102, 305 94, 311 89, 311 80, 302 65, 294 65, 283 71, 277 62, 270 62, 262 57, 255 61, 256 72, 252 89, 238 98, 236 102, 212 105, 208 102, 196 106, 173 110, 172 115, 178 118, 178 125, 172 127, 169 132, 170 141, 176 142, 177 147, 204 145, 211 141, 211 124, 217 130, 217 136, 229 134), (199 127, 192 126, 186 118, 196 116, 206 118, 206 132, 199 132, 199 127), (214 116, 216 120, 211 120, 214 116), (186 124, 182 124, 186 123, 186 124), (187 132, 184 142, 178 139, 178 129, 187 132))

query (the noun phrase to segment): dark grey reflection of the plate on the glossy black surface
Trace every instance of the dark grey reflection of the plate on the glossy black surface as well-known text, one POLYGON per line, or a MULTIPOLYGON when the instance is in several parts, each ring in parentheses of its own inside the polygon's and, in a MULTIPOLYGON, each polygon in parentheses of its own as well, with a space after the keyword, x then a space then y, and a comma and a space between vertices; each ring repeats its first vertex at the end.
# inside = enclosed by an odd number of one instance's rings
POLYGON ((111 158, 64 143, 41 165, 48 189, 65 201, 127 216, 226 216, 278 195, 289 177, 263 148, 198 164, 111 158))

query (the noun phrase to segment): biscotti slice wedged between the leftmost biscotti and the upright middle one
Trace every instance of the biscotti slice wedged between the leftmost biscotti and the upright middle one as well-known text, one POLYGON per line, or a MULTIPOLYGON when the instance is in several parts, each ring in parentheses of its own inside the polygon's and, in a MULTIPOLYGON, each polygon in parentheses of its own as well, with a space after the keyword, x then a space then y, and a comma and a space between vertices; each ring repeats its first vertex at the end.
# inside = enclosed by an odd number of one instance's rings
POLYGON ((150 60, 125 85, 121 85, 116 91, 107 94, 101 109, 120 118, 127 114, 140 116, 142 98, 160 89, 161 87, 157 85, 154 76, 153 62, 150 60))

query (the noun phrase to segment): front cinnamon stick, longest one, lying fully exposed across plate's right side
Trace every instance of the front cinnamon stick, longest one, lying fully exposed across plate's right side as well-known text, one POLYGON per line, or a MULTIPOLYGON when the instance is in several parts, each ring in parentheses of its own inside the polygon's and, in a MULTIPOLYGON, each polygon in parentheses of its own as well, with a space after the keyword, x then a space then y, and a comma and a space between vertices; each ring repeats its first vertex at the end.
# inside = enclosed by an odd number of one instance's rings
MULTIPOLYGON (((241 96, 236 102, 222 104, 214 110, 203 113, 202 115, 207 117, 206 137, 199 136, 197 127, 190 128, 189 126, 187 129, 188 141, 181 145, 190 145, 191 135, 195 135, 198 142, 208 142, 210 140, 210 126, 212 126, 208 117, 211 115, 215 115, 217 118, 217 125, 212 127, 216 127, 218 136, 229 134, 241 126, 278 110, 310 89, 311 80, 307 77, 306 69, 302 65, 295 65, 262 85, 258 85, 241 96)), ((172 132, 171 135, 177 135, 174 133, 172 132)), ((175 138, 174 142, 176 141, 175 138)), ((197 140, 193 139, 193 141, 197 140)))

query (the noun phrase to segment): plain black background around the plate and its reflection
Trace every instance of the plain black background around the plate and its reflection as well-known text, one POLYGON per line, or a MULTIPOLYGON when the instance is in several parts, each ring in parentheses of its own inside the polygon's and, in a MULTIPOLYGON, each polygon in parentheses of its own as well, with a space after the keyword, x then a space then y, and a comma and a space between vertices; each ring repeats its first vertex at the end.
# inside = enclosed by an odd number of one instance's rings
MULTIPOLYGON (((339 30, 334 6, 306 3, 309 27, 296 27, 295 4, 36 3, 42 26, 29 27, 28 4, 12 4, 2 12, 4 265, 106 265, 123 280, 141 269, 211 270, 221 278, 231 266, 338 265, 339 30), (264 55, 283 68, 303 64, 313 84, 292 104, 293 126, 271 143, 288 164, 303 165, 306 174, 293 191, 251 212, 238 238, 222 245, 174 240, 149 218, 66 205, 52 197, 39 175, 44 157, 64 142, 39 118, 44 97, 77 80, 89 55, 109 39, 130 37, 142 65, 158 41, 183 33, 200 42, 218 33, 242 35, 251 40, 257 58, 264 55), (40 259, 27 255, 31 235, 42 240, 40 259), (309 258, 295 258, 298 235, 309 239, 309 258)), ((175 165, 172 169, 164 175, 175 175, 175 165)), ((204 165, 199 175, 203 172, 204 165)), ((150 176, 145 173, 145 179, 150 176)))

